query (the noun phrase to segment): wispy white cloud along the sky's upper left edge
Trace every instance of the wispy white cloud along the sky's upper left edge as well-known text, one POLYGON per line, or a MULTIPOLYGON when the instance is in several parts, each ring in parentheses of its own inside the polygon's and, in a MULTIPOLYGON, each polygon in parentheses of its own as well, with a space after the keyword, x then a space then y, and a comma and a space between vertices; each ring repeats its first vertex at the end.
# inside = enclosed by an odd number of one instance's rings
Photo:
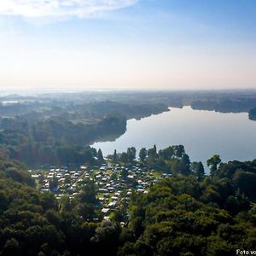
POLYGON ((137 0, 0 0, 0 15, 82 18, 123 9, 136 2, 137 0))

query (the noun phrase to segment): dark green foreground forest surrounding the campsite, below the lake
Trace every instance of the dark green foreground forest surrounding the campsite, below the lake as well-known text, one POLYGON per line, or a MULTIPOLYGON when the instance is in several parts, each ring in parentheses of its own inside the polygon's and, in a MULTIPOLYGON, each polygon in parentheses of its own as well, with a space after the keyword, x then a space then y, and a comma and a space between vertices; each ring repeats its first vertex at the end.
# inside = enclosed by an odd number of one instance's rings
POLYGON ((182 145, 142 148, 138 162, 134 154, 128 148, 113 161, 168 169, 172 177, 147 194, 133 191, 129 205, 106 221, 92 181, 84 180, 73 200, 57 201, 39 193, 26 168, 2 153, 1 255, 234 255, 238 248, 255 249, 255 160, 222 163, 213 155, 205 175, 182 145))

